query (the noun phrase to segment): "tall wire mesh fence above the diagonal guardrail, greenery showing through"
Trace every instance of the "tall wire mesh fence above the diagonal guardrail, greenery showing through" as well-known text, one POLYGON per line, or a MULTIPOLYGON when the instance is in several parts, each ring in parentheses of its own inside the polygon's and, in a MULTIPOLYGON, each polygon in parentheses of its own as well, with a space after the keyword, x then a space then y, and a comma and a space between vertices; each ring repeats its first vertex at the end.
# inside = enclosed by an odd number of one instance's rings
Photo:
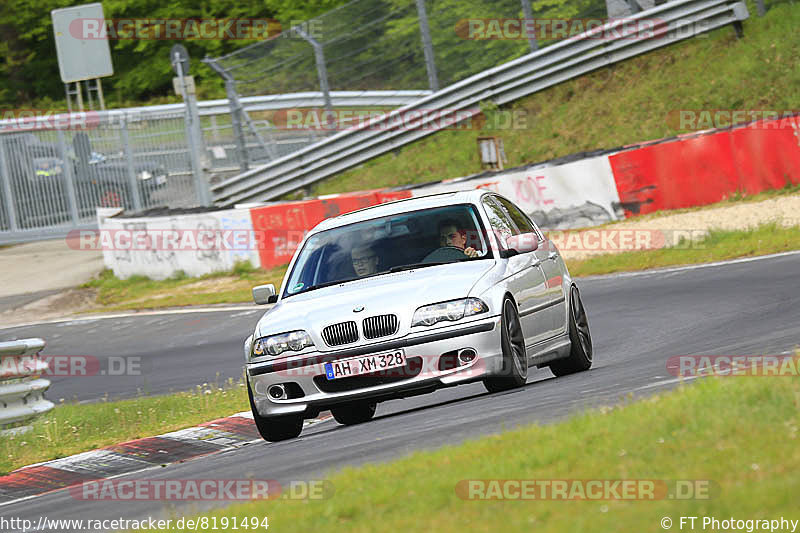
MULTIPOLYGON (((352 0, 283 33, 217 58, 206 58, 225 81, 232 102, 251 94, 331 91, 439 90, 520 57, 547 38, 476 39, 470 21, 606 16, 606 0, 551 6, 531 0, 352 0)), ((377 109, 381 105, 378 103, 377 109)), ((384 106, 385 108, 385 106, 384 106)), ((232 113, 242 168, 274 161, 334 135, 339 128, 290 129, 268 113, 232 113)))

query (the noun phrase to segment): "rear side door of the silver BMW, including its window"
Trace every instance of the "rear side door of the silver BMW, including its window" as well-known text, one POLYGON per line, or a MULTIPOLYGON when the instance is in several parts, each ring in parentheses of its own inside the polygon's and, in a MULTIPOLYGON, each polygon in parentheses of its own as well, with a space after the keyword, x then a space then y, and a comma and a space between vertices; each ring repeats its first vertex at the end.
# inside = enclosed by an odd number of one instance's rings
POLYGON ((540 267, 544 273, 546 312, 550 315, 552 322, 548 336, 553 337, 563 333, 567 320, 567 304, 563 283, 564 271, 558 249, 542 234, 536 223, 519 207, 503 197, 497 197, 497 201, 505 208, 511 220, 521 232, 535 233, 539 237, 539 247, 533 254, 539 260, 540 267))

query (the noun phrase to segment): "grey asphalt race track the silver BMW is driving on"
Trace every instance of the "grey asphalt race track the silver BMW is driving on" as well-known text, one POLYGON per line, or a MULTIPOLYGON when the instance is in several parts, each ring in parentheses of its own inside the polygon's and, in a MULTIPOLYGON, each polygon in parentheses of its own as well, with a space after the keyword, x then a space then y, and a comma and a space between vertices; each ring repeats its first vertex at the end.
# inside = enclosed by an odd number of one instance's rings
MULTIPOLYGON (((554 379, 531 372, 528 384, 488 394, 479 384, 380 404, 359 426, 333 421, 296 440, 260 443, 202 460, 132 474, 147 479, 315 479, 345 465, 384 461, 518 424, 562 418, 633 392, 676 386, 666 370, 675 355, 780 354, 800 344, 800 253, 703 268, 579 281, 595 345, 583 374, 554 379)), ((43 337, 46 354, 141 357, 142 376, 54 378, 48 397, 96 400, 192 388, 238 378, 242 339, 259 311, 172 314, 0 329, 0 338, 43 337)), ((3 506, 0 513, 48 518, 184 516, 202 510, 175 502, 90 502, 69 492, 3 506)), ((34 522, 35 523, 35 522, 34 522)))

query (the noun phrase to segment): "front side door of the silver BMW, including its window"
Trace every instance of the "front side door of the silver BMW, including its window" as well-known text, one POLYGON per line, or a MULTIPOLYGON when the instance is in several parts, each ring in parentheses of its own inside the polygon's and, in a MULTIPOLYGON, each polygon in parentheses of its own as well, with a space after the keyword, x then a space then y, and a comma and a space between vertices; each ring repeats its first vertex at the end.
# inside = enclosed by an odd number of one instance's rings
MULTIPOLYGON (((521 231, 497 197, 485 196, 483 204, 492 232, 500 241, 500 248, 505 249, 506 239, 511 235, 519 235, 521 231)), ((526 346, 546 339, 551 335, 553 324, 546 310, 547 286, 539 258, 535 253, 524 253, 501 261, 506 265, 504 283, 517 302, 526 346)))

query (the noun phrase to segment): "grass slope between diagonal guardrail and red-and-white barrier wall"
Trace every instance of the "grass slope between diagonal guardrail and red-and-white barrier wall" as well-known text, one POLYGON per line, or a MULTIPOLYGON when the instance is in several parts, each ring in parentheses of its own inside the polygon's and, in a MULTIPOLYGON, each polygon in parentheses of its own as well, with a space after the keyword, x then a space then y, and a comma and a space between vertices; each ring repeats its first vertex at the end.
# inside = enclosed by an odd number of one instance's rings
POLYGON ((743 39, 725 27, 600 69, 505 107, 524 113, 524 127, 437 133, 318 182, 310 192, 473 174, 480 171, 476 138, 481 135, 501 137, 507 167, 513 167, 685 133, 668 120, 676 110, 796 109, 792 95, 800 85, 800 6, 771 6, 763 18, 750 12, 743 39))

